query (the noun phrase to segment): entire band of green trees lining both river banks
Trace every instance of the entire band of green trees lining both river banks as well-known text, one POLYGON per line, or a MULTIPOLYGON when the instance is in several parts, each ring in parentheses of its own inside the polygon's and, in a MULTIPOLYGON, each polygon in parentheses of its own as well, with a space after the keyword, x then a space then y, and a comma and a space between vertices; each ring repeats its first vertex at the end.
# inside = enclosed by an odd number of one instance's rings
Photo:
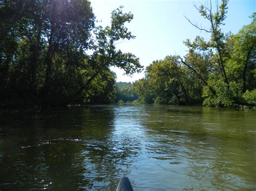
MULTIPOLYGON (((135 38, 125 26, 133 15, 122 6, 110 26, 96 26, 88 0, 0 2, 0 108, 10 105, 68 105, 133 102, 204 104, 236 107, 256 104, 255 31, 252 22, 237 33, 221 25, 227 0, 215 12, 197 10, 210 40, 197 36, 184 44, 188 53, 169 55, 146 67, 144 79, 116 83, 111 66, 140 72, 139 59, 116 44, 135 38)), ((218 3, 217 3, 218 4, 218 3)))

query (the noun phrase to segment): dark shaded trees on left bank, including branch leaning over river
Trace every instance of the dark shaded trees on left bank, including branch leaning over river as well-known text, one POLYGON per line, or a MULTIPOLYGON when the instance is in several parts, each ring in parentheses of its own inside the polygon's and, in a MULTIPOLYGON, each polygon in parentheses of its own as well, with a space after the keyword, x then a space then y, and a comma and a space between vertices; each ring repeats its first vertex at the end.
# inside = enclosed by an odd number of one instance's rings
POLYGON ((122 7, 111 25, 95 26, 87 0, 0 2, 0 105, 109 103, 115 99, 111 66, 126 74, 142 66, 116 48, 132 39, 122 7))

